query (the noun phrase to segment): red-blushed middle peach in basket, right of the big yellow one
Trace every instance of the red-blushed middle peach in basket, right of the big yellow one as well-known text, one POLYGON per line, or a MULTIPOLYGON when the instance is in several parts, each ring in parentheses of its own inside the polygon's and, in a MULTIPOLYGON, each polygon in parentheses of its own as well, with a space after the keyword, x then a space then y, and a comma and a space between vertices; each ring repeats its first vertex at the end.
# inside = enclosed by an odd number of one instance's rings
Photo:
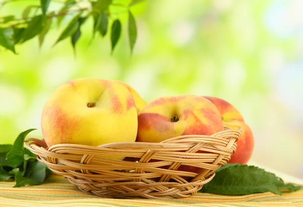
MULTIPOLYGON (((221 130, 223 123, 220 113, 209 100, 195 95, 166 96, 150 102, 139 112, 136 142, 160 143, 180 135, 212 135, 221 130)), ((168 169, 170 166, 163 168, 168 169)), ((203 171, 202 168, 188 165, 178 166, 177 170, 197 174, 203 171)))

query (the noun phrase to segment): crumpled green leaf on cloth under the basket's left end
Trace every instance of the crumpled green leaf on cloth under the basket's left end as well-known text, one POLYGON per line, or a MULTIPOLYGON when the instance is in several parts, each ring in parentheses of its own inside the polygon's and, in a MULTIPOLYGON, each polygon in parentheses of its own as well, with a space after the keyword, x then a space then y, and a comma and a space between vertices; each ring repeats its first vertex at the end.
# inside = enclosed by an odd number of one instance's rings
POLYGON ((28 164, 28 169, 30 169, 30 173, 27 176, 22 176, 20 172, 16 173, 15 175, 16 185, 14 185, 13 187, 21 187, 27 184, 40 185, 43 183, 47 174, 46 165, 40 162, 30 162, 28 164))

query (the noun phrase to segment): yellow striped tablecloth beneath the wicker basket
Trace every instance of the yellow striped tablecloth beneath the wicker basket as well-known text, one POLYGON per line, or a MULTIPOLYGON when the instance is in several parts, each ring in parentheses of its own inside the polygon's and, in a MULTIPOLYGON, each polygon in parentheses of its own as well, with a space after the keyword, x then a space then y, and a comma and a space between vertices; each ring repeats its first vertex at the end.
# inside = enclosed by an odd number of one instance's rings
POLYGON ((0 206, 303 206, 303 189, 273 193, 226 196, 197 193, 180 199, 100 198, 78 190, 62 176, 52 174, 42 185, 13 188, 14 182, 0 182, 0 206))

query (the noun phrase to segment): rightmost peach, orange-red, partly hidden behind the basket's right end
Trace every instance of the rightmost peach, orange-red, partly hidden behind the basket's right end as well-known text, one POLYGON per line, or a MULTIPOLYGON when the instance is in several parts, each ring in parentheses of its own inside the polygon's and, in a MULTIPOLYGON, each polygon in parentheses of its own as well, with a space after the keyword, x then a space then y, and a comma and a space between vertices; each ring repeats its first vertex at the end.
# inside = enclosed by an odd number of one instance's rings
POLYGON ((254 135, 251 129, 244 122, 241 113, 227 101, 210 96, 204 96, 210 100, 218 109, 221 114, 223 125, 233 129, 242 127, 242 133, 237 141, 237 150, 231 155, 229 163, 247 164, 252 151, 254 150, 254 135))

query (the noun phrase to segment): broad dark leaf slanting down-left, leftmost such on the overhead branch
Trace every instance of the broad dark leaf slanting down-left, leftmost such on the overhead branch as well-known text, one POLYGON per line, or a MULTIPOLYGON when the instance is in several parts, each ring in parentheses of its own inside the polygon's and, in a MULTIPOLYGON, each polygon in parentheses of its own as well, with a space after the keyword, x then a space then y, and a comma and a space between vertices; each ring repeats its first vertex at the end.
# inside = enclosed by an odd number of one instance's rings
POLYGON ((23 42, 35 37, 43 29, 43 18, 42 15, 34 17, 29 23, 27 28, 22 34, 23 42))

